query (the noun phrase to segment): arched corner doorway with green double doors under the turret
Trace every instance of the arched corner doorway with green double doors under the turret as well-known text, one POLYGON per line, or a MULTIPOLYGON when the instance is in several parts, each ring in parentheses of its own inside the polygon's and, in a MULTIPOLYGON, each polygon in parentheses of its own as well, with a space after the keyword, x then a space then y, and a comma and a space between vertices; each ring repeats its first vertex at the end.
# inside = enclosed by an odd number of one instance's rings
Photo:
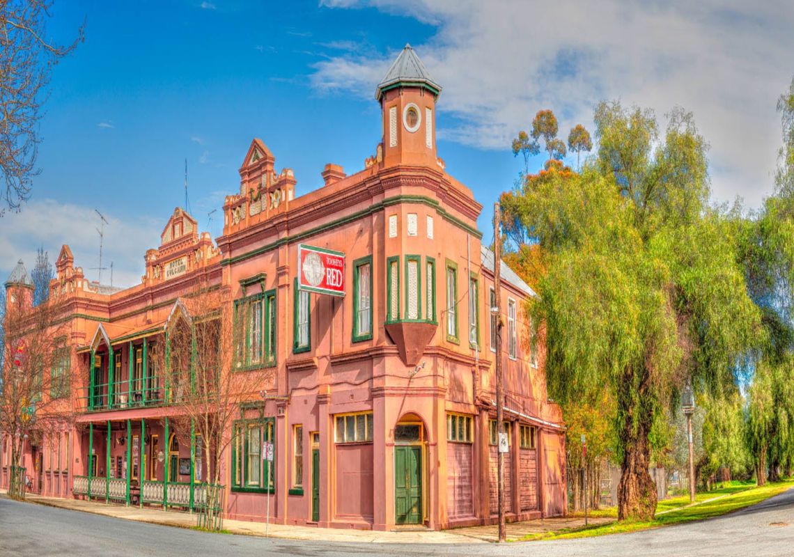
POLYGON ((414 414, 396 425, 395 524, 422 524, 426 503, 425 427, 414 414))

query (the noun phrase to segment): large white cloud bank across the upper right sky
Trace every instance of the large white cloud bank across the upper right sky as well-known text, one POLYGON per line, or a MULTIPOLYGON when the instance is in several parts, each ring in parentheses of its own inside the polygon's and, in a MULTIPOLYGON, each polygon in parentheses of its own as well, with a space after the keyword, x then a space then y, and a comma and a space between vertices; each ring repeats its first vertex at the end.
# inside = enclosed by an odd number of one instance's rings
MULTIPOLYGON (((787 0, 690 2, 522 2, 491 0, 325 0, 337 8, 374 5, 436 26, 414 44, 444 87, 452 116, 439 136, 507 149, 538 109, 551 108, 561 136, 576 123, 592 131, 603 98, 692 110, 711 144, 715 195, 757 206, 771 190, 781 141, 777 97, 792 79, 794 10, 787 0)), ((402 44, 382 56, 340 53, 315 66, 316 90, 368 98, 402 44)))

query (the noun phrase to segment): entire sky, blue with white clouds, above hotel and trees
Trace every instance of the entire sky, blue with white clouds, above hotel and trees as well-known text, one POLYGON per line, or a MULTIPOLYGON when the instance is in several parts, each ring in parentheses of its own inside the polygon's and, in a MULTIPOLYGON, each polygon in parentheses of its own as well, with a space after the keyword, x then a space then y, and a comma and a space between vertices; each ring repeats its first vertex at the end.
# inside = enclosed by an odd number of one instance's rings
POLYGON ((521 166, 511 136, 542 108, 557 112, 561 135, 579 122, 592 129, 601 98, 660 117, 692 109, 712 144, 715 199, 741 195, 757 206, 769 193, 780 144, 774 104, 794 72, 784 2, 752 14, 722 2, 687 11, 686 2, 612 0, 592 13, 545 4, 59 0, 52 36, 68 42, 85 19, 86 40, 52 75, 41 174, 28 206, 0 219, 0 273, 19 257, 30 267, 39 245, 55 259, 64 243, 75 264, 96 267, 96 208, 110 221, 114 283, 132 286, 184 203, 184 160, 191 212, 218 236, 223 196, 237 191, 254 136, 277 169, 294 169, 298 194, 322 183, 326 163, 360 170, 380 140, 376 83, 406 42, 444 86, 438 153, 486 208, 480 229, 521 166), (534 23, 549 18, 565 25, 534 23), (628 56, 621 41, 632 40, 628 56))

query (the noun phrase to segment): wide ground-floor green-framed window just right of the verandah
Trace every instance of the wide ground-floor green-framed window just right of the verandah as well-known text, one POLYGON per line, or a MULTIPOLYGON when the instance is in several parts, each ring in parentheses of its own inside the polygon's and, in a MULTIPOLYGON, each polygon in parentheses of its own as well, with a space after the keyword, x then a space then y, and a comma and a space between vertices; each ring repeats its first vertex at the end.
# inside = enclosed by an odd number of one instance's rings
POLYGON ((232 491, 275 492, 274 459, 264 459, 265 443, 275 443, 276 418, 241 420, 233 424, 232 491))

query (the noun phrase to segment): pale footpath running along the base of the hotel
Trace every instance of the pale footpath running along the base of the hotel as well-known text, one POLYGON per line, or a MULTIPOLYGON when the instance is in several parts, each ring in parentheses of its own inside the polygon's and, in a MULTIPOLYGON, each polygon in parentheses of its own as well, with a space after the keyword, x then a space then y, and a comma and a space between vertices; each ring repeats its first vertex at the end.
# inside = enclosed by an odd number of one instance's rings
MULTIPOLYGON (((6 490, 0 490, 5 495, 6 490)), ((178 528, 195 528, 196 517, 179 511, 163 511, 148 507, 125 506, 98 501, 44 497, 25 494, 25 501, 38 505, 48 505, 59 509, 70 509, 83 513, 93 513, 106 517, 121 518, 127 521, 161 524, 178 528)), ((590 524, 613 519, 590 519, 590 524)), ((579 517, 546 518, 536 521, 507 524, 507 539, 520 540, 527 534, 557 531, 563 528, 580 528, 584 519, 579 517)), ((315 528, 262 522, 223 520, 223 530, 244 536, 268 536, 291 540, 333 541, 361 544, 487 544, 496 541, 496 526, 472 526, 434 532, 433 530, 402 530, 396 532, 376 532, 372 530, 353 530, 346 528, 315 528)))

